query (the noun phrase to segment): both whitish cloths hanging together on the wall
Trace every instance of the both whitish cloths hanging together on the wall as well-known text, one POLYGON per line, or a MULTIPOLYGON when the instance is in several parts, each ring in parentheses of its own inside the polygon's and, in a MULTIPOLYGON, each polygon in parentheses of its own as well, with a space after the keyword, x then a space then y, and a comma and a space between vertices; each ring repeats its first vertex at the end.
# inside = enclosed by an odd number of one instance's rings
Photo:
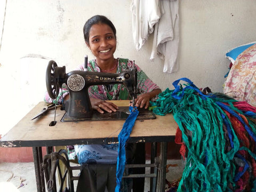
POLYGON ((137 50, 154 31, 150 60, 164 60, 164 73, 178 70, 179 0, 133 0, 133 40, 137 50), (154 26, 154 28, 153 28, 154 26))

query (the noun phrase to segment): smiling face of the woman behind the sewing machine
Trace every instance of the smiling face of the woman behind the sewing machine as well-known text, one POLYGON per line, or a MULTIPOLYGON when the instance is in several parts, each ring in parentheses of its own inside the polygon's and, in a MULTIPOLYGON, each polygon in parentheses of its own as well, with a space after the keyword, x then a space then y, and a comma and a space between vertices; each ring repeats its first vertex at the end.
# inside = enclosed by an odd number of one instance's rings
POLYGON ((101 60, 114 57, 116 38, 113 30, 106 24, 94 24, 89 33, 89 45, 92 54, 101 60))

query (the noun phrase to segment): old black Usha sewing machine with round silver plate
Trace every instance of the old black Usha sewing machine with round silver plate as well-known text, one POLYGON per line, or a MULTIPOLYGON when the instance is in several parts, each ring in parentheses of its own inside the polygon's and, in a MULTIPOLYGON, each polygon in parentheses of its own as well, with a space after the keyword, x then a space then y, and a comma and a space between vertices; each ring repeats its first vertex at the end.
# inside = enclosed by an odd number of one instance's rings
MULTIPOLYGON (((87 71, 86 59, 84 71, 73 70, 66 74, 65 66, 58 67, 55 61, 49 61, 46 69, 46 87, 52 99, 58 96, 63 83, 68 87, 70 98, 65 102, 66 114, 62 117, 62 122, 127 118, 128 107, 119 108, 117 113, 100 114, 93 111, 88 93, 88 88, 92 85, 124 84, 133 98, 133 103, 137 98, 137 68, 134 65, 119 74, 98 73, 87 71)), ((142 119, 155 118, 152 113, 141 115, 142 119)))

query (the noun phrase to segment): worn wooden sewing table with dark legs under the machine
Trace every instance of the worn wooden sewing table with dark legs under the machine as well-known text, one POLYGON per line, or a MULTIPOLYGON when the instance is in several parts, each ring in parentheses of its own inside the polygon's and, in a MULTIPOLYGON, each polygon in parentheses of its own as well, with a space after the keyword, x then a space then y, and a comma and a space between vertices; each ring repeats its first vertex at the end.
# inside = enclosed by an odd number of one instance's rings
MULTIPOLYGON (((111 101, 117 106, 129 106, 129 101, 111 101)), ((65 111, 57 108, 57 124, 49 126, 54 121, 54 110, 47 112, 31 121, 44 107, 45 102, 39 102, 21 121, 1 139, 1 147, 33 147, 37 191, 45 191, 44 174, 42 171, 42 147, 106 144, 118 142, 118 134, 125 121, 78 121, 61 122, 65 111)), ((127 142, 160 143, 158 183, 160 191, 165 191, 167 142, 173 141, 177 130, 173 116, 156 115, 156 119, 137 120, 127 142)), ((46 148, 47 149, 47 148, 46 148)), ((51 151, 47 150, 47 153, 51 151)), ((152 158, 151 158, 152 159, 152 158)))

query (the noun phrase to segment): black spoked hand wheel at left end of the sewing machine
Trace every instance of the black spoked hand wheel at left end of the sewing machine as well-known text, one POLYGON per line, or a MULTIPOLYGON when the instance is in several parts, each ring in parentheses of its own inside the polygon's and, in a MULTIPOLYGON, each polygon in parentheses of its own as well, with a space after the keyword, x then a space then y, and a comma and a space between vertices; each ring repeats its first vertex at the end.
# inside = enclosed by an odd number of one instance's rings
POLYGON ((55 99, 59 94, 59 87, 57 87, 58 84, 54 76, 55 67, 58 67, 57 63, 51 60, 46 69, 46 88, 52 99, 55 99))

